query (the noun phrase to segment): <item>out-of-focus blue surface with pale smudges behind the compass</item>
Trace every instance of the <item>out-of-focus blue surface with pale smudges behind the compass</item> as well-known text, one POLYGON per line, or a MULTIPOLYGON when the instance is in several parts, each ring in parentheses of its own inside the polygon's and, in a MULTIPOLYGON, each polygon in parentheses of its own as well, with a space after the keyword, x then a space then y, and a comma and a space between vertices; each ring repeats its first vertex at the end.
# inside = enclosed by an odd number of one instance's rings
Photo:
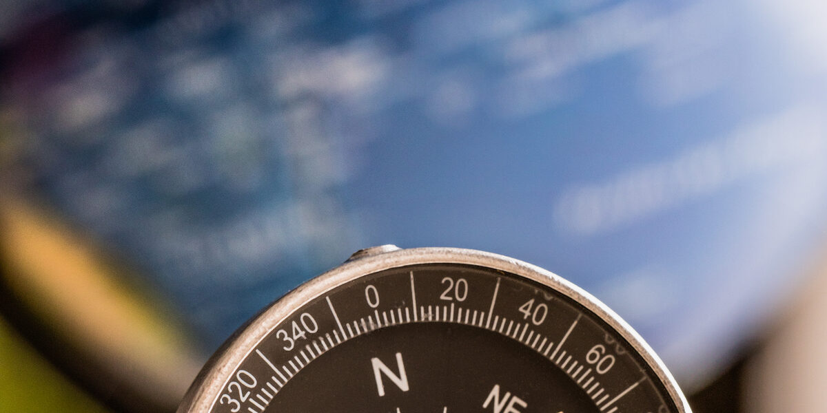
POLYGON ((5 7, 0 188, 201 359, 356 249, 459 246, 593 292, 693 388, 825 240, 817 2, 5 7))

